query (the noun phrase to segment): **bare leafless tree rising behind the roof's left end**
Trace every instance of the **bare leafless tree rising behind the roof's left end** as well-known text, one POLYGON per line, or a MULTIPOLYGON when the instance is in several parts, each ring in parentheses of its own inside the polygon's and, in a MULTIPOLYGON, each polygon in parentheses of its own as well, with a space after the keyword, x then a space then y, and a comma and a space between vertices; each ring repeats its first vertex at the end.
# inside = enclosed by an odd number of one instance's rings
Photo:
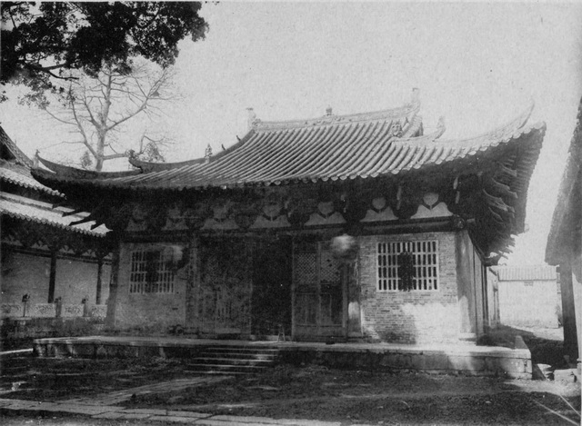
POLYGON ((104 64, 95 78, 77 75, 78 80, 72 81, 67 94, 61 97, 60 104, 65 109, 59 113, 46 109, 46 113, 80 135, 79 140, 73 139, 70 144, 84 145, 95 158, 92 166, 96 170, 101 170, 105 161, 128 156, 130 140, 139 147, 136 154, 148 161, 164 161, 159 148, 171 144, 171 138, 143 131, 135 139, 128 137, 127 129, 132 122, 144 125, 144 119, 157 120, 164 114, 162 104, 179 98, 173 92, 171 72, 155 70, 143 62, 135 64, 130 74, 121 74, 104 64))

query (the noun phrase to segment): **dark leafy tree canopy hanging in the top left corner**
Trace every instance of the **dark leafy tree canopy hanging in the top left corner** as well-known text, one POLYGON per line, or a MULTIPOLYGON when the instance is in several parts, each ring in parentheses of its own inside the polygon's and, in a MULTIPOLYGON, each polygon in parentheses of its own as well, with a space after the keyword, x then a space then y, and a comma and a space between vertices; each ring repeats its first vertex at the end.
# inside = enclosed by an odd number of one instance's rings
POLYGON ((129 72, 143 56, 166 67, 177 44, 203 39, 198 2, 2 2, 0 83, 25 84, 38 99, 64 90, 68 70, 96 76, 104 63, 129 72))

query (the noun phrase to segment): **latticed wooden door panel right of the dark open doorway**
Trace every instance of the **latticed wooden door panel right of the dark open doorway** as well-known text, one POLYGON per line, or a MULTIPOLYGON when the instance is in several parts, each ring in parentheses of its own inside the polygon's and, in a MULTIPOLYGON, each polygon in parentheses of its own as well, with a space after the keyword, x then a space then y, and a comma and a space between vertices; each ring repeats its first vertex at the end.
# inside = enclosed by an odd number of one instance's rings
POLYGON ((345 335, 341 273, 328 243, 295 244, 293 282, 295 337, 345 335))

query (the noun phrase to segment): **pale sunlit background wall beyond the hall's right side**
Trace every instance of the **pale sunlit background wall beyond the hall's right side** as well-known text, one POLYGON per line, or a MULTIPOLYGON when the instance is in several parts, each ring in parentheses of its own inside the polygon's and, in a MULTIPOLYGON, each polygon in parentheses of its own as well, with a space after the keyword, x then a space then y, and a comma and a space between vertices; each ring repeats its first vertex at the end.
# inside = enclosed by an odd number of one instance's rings
POLYGON ((560 303, 555 281, 499 282, 499 314, 505 325, 557 328, 560 303))

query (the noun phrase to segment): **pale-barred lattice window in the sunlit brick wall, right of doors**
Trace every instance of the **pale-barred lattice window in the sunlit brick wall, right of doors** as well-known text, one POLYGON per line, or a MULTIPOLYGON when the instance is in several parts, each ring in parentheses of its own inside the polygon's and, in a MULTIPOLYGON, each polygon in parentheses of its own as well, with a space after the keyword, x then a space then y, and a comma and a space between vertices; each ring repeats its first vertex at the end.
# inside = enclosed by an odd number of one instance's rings
POLYGON ((378 291, 438 289, 437 241, 378 243, 376 254, 378 291))

